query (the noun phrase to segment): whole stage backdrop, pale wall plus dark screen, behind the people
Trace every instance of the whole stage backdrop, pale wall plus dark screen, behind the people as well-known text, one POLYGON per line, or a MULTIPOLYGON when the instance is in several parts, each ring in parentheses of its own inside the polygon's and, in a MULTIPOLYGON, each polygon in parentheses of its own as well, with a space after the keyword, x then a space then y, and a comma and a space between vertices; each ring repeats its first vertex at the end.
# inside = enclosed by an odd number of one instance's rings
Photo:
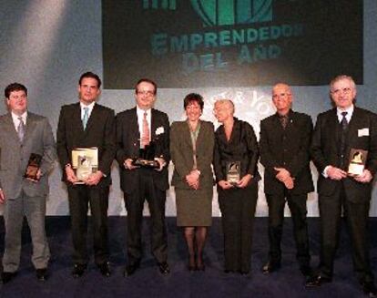
MULTIPOLYGON (((376 15, 375 0, 127 0, 102 5, 97 0, 4 0, 0 88, 24 83, 29 109, 48 117, 56 131, 60 107, 78 100, 81 73, 91 70, 104 78, 99 103, 116 112, 134 107, 131 87, 139 77, 151 77, 160 87, 156 108, 167 112, 170 122, 185 118, 183 98, 198 92, 205 98, 204 119, 218 125, 213 103, 231 98, 236 116, 259 135, 260 119, 275 112, 270 88, 280 80, 293 85, 293 108, 311 115, 313 122, 331 108, 327 84, 340 73, 356 78, 358 106, 377 112, 376 15), (270 55, 269 48, 279 48, 270 50, 279 56, 270 55)), ((5 113, 5 105, 0 112, 5 113)), ((317 180, 313 167, 312 172, 317 180)), ((124 215, 116 162, 112 177, 108 213, 124 215)), ((49 215, 68 214, 60 179, 56 165, 50 176, 49 215)), ((376 200, 374 191, 373 216, 376 200)), ((318 216, 317 205, 313 192, 310 216, 318 216)), ((260 182, 257 215, 267 212, 260 182)), ((175 214, 171 188, 167 215, 175 214)), ((216 194, 213 215, 220 215, 216 194)))

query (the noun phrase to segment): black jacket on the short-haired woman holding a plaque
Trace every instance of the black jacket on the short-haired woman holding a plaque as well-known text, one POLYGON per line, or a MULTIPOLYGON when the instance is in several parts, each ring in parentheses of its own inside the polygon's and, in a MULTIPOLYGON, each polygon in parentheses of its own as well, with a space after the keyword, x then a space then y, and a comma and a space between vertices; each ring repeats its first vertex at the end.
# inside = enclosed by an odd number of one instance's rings
POLYGON ((234 118, 233 130, 229 142, 221 125, 215 132, 215 149, 213 153, 213 167, 216 180, 227 180, 227 162, 240 161, 240 176, 253 176, 250 184, 260 180, 258 159, 260 149, 254 129, 248 122, 234 118))

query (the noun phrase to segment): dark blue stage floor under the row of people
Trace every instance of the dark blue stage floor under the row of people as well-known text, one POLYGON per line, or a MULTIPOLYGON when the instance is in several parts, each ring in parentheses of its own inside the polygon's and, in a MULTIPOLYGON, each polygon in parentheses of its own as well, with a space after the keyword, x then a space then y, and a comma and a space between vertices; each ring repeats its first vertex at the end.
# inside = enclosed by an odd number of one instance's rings
MULTIPOLYGON (((341 245, 335 261, 333 282, 318 289, 304 288, 304 278, 295 260, 295 245, 290 218, 286 218, 281 249, 282 267, 265 276, 260 268, 268 257, 267 218, 255 219, 253 231, 252 273, 250 277, 223 272, 223 245, 220 218, 214 218, 205 250, 206 271, 188 272, 186 246, 176 218, 168 218, 168 262, 171 272, 162 276, 149 250, 148 218, 144 219, 144 258, 141 268, 124 278, 126 262, 126 217, 109 217, 110 262, 113 274, 104 278, 93 258, 87 273, 71 276, 71 234, 68 217, 47 217, 46 231, 52 260, 46 283, 36 280, 30 261, 31 241, 24 227, 23 251, 18 274, 11 283, 0 285, 0 297, 364 297, 352 271, 351 243, 343 223, 341 245)), ((0 224, 0 252, 4 252, 4 221, 0 224)), ((311 264, 319 262, 319 219, 309 219, 311 264)), ((377 219, 371 218, 371 261, 377 264, 377 219)), ((89 229, 88 242, 91 243, 89 229)), ((90 246, 90 245, 89 245, 90 246)))

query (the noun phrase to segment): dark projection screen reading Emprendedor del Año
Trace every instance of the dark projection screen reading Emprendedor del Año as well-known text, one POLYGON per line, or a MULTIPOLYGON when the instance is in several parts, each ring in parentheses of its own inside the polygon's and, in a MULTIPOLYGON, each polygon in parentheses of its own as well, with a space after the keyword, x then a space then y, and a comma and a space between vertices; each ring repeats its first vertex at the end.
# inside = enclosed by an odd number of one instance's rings
POLYGON ((326 85, 340 73, 362 84, 362 0, 102 5, 106 88, 133 87, 146 69, 160 87, 326 85))

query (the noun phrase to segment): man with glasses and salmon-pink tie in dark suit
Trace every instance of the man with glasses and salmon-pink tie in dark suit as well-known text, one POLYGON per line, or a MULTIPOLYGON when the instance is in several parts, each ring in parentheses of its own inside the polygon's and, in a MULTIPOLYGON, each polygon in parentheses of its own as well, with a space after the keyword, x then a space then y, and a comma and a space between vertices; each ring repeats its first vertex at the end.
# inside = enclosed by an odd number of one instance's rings
POLYGON ((158 269, 168 274, 168 241, 165 227, 165 201, 168 190, 169 125, 167 114, 152 108, 157 86, 150 79, 138 81, 135 90, 137 106, 117 114, 117 162, 120 187, 127 209, 127 266, 125 276, 140 265, 141 221, 144 200, 148 200, 151 217, 151 249, 158 269), (132 160, 140 149, 153 146, 158 169, 138 168, 132 160))

